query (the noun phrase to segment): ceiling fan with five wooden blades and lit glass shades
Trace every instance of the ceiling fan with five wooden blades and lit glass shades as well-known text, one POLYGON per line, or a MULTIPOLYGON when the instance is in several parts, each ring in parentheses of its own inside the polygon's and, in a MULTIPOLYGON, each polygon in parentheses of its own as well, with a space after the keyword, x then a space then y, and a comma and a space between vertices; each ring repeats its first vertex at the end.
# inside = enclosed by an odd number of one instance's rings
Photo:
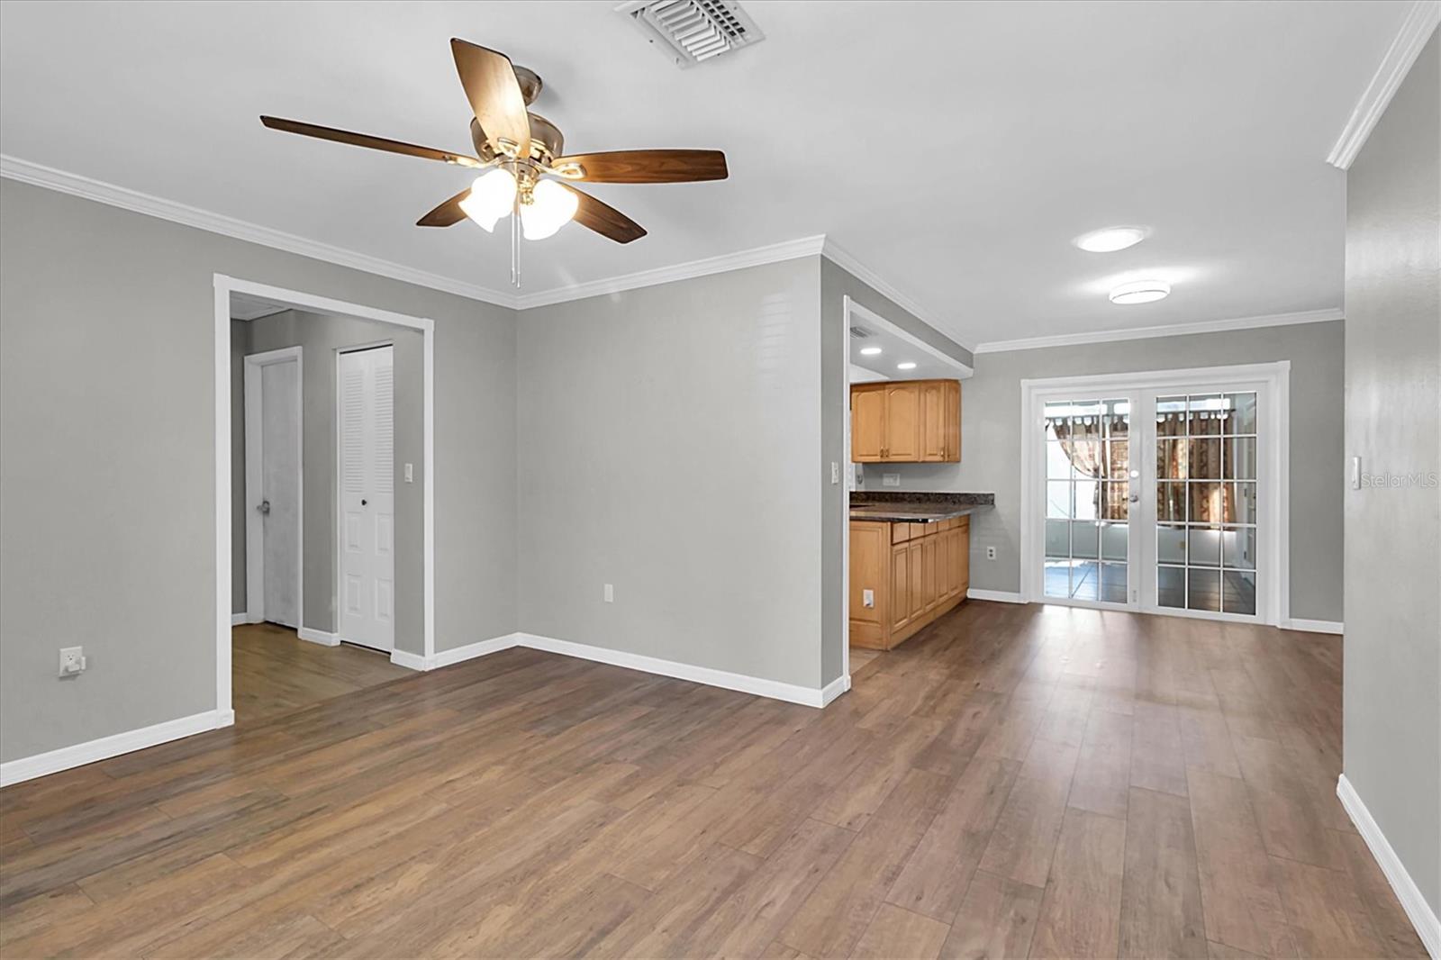
POLYGON ((612 150, 562 154, 561 128, 526 108, 540 95, 540 76, 514 66, 504 53, 452 39, 451 53, 474 111, 470 137, 476 154, 421 147, 386 137, 320 127, 298 120, 261 117, 271 130, 386 150, 425 160, 486 170, 468 187, 416 221, 451 226, 470 218, 487 231, 510 222, 510 283, 520 285, 519 235, 545 239, 569 221, 630 244, 646 229, 615 208, 571 186, 579 183, 695 183, 726 179, 719 150, 612 150))

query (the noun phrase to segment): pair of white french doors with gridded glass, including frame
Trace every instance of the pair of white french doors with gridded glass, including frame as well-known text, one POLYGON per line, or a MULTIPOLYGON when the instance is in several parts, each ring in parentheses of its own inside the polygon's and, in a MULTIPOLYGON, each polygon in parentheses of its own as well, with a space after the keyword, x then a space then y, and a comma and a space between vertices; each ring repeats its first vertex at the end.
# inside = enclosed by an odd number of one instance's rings
POLYGON ((1027 600, 1278 623, 1285 365, 1023 385, 1027 600))

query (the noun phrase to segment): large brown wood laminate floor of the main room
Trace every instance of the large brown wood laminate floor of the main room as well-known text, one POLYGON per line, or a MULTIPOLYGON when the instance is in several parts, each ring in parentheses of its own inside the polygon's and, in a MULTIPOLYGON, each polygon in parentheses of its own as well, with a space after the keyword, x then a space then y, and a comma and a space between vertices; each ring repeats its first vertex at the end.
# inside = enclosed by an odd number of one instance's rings
POLYGON ((0 954, 1419 957, 1340 639, 968 603, 826 711, 513 649, 0 793, 0 954))

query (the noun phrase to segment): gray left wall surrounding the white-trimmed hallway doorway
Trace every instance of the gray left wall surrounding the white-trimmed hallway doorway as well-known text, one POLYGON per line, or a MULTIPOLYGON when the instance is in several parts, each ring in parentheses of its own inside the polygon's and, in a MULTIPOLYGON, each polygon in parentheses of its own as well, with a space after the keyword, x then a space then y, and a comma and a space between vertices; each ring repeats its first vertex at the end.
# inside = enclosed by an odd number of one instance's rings
POLYGON ((513 311, 9 179, 0 272, 0 760, 215 708, 216 272, 435 320, 437 646, 517 628, 513 311))

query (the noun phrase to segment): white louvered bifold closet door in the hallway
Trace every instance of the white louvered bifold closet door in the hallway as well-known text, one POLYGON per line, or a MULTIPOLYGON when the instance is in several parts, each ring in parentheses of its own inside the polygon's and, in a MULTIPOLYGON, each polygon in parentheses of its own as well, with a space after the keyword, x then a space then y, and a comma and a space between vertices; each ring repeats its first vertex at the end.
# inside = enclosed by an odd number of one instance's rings
POLYGON ((395 356, 389 346, 339 359, 342 640, 395 649, 395 356))

